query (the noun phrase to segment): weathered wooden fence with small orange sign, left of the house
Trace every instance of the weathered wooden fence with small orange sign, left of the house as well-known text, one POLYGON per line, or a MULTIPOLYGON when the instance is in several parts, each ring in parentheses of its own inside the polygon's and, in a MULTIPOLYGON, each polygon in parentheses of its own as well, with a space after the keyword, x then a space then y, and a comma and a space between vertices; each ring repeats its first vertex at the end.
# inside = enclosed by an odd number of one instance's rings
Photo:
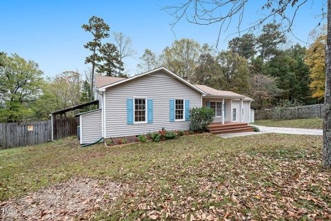
MULTIPOLYGON (((77 135, 79 119, 59 117, 53 119, 54 140, 77 135)), ((46 122, 0 123, 0 149, 15 146, 43 144, 52 140, 52 124, 46 122)))

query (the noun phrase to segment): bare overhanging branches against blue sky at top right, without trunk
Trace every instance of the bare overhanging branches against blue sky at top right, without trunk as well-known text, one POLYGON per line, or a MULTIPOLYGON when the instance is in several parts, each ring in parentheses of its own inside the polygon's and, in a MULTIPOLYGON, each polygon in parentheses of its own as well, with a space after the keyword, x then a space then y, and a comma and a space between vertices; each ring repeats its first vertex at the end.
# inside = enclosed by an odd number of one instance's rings
MULTIPOLYGON (((185 19, 189 23, 195 23, 201 26, 208 26, 211 24, 219 23, 219 34, 217 37, 217 46, 221 37, 221 32, 226 32, 230 27, 231 21, 236 20, 237 32, 231 35, 246 32, 253 32, 261 28, 264 23, 279 23, 283 32, 292 33, 292 26, 298 10, 305 4, 309 3, 308 0, 287 0, 287 1, 274 1, 264 0, 261 2, 259 17, 256 21, 249 23, 248 26, 243 26, 243 20, 246 16, 245 8, 253 1, 249 0, 188 0, 179 3, 177 6, 167 6, 163 8, 168 12, 174 21, 170 23, 172 28, 181 20, 185 19), (266 12, 266 13, 265 13, 266 12), (261 14, 261 15, 260 15, 261 14)), ((254 6, 256 7, 256 6, 254 6)), ((251 17, 252 15, 247 15, 251 17)), ((321 21, 325 18, 326 13, 324 7, 321 8, 321 21)), ((320 23, 318 24, 318 26, 320 23)))

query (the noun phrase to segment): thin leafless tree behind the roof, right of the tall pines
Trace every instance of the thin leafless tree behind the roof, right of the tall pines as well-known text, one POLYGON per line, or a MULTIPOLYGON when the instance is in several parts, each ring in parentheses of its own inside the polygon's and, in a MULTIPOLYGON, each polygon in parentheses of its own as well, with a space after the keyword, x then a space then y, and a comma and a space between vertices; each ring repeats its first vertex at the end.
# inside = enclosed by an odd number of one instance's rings
POLYGON ((119 67, 119 77, 122 77, 124 70, 123 59, 132 57, 136 52, 132 48, 132 39, 130 37, 124 35, 122 32, 114 32, 113 35, 117 50, 119 50, 119 64, 121 64, 119 67))

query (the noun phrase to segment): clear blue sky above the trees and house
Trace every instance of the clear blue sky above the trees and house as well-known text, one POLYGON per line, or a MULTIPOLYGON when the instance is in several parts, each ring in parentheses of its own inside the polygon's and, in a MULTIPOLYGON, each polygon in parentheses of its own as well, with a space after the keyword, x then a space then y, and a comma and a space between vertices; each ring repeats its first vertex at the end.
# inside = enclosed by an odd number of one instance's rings
MULTIPOLYGON (((259 0, 261 1, 261 0, 259 0)), ((246 8, 243 23, 248 24, 257 17, 257 2, 246 8)), ((218 26, 197 26, 181 21, 171 30, 170 15, 161 10, 163 6, 180 1, 98 1, 98 0, 54 0, 1 1, 0 51, 17 53, 25 59, 36 61, 47 76, 54 76, 64 70, 81 73, 88 69, 84 59, 89 51, 83 44, 92 37, 81 28, 92 15, 102 17, 110 26, 111 32, 123 32, 132 38, 137 55, 126 59, 130 75, 137 73, 139 57, 145 48, 157 55, 174 39, 191 38, 200 44, 214 45, 218 26), (175 35, 174 35, 175 33, 175 35)), ((325 1, 315 0, 306 4, 298 13, 293 27, 294 35, 307 40, 310 31, 317 26, 321 7, 325 1)), ((222 33, 219 49, 226 49, 230 33, 235 32, 235 24, 228 32, 222 33)), ((301 41, 289 36, 292 44, 301 41)), ((110 39, 112 41, 112 39, 110 39)), ((303 44, 305 45, 305 44, 303 44)))

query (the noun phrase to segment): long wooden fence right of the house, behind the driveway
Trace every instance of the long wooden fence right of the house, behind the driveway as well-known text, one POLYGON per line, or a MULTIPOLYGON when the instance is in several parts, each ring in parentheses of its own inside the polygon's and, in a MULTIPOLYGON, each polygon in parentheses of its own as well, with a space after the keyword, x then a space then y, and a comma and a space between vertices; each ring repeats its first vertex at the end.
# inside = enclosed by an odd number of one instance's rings
POLYGON ((266 109, 255 111, 254 119, 302 119, 324 117, 324 104, 313 104, 306 106, 296 106, 291 108, 283 108, 281 110, 266 109))

